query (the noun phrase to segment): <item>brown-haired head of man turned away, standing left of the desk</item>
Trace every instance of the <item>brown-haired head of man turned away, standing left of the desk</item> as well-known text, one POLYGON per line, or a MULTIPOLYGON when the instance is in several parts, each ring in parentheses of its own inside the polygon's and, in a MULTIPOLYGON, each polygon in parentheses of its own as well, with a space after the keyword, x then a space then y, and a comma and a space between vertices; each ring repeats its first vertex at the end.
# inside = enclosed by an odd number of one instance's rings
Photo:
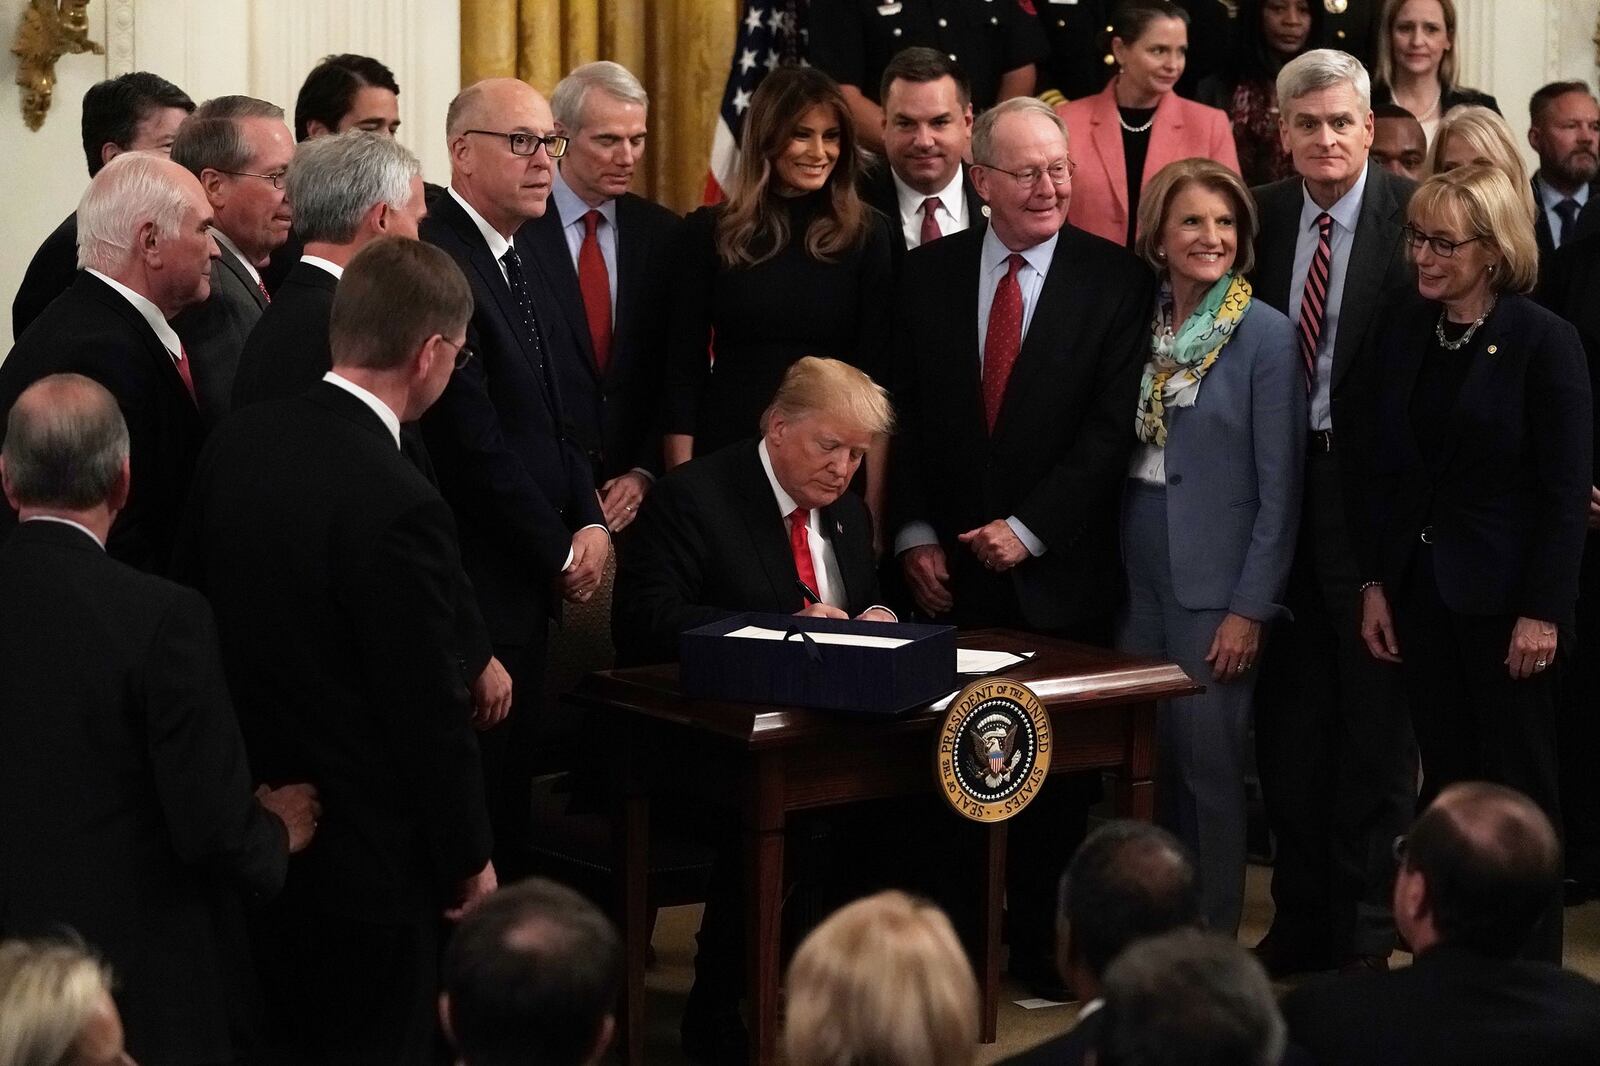
POLYGON ((405 410, 395 413, 414 421, 472 359, 470 317, 472 288, 454 259, 419 240, 379 237, 339 279, 328 322, 333 368, 402 389, 405 410))

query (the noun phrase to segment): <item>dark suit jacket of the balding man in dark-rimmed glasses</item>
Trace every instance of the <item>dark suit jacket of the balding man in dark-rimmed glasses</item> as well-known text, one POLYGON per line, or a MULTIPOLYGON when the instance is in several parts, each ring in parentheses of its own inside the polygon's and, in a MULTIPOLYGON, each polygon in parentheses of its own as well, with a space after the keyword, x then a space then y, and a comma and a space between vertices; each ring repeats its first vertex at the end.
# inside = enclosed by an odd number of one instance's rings
MULTIPOLYGON (((499 264, 472 218, 448 192, 422 219, 422 240, 450 253, 472 285, 467 344, 477 357, 458 370, 422 416, 422 435, 445 498, 461 523, 467 576, 496 643, 526 643, 560 608, 552 583, 573 533, 602 525, 594 471, 563 426, 554 365, 578 341, 555 311, 538 258, 517 234, 517 253, 541 330, 536 351, 518 322, 499 264)), ((576 355, 570 355, 576 359, 576 355)))

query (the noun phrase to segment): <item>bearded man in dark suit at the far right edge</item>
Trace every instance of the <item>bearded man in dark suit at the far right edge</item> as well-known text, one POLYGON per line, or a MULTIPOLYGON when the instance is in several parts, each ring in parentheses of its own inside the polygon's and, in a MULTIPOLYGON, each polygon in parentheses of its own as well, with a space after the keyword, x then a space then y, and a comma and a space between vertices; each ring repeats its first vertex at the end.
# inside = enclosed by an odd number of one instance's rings
POLYGON ((1528 102, 1528 144, 1539 154, 1533 176, 1539 261, 1600 232, 1600 102, 1587 82, 1552 82, 1528 102))

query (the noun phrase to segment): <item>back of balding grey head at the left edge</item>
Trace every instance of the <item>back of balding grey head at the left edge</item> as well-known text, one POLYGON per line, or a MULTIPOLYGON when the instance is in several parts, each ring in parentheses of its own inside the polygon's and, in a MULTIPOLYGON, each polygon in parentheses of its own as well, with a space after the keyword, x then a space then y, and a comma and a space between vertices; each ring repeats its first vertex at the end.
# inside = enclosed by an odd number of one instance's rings
POLYGON ((117 495, 126 463, 128 426, 98 381, 50 375, 11 405, 0 469, 18 507, 98 507, 117 495))

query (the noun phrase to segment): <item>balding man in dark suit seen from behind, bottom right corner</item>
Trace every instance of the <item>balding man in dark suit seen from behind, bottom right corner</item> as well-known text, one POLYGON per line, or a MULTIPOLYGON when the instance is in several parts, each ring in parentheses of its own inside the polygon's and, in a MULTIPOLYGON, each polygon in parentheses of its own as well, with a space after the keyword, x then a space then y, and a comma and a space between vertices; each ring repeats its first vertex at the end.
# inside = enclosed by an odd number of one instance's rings
POLYGON ((1533 800, 1453 784, 1397 852, 1395 925, 1414 962, 1291 992, 1296 1044, 1330 1066, 1600 1061, 1600 986, 1518 959, 1562 874, 1555 829, 1533 800))

